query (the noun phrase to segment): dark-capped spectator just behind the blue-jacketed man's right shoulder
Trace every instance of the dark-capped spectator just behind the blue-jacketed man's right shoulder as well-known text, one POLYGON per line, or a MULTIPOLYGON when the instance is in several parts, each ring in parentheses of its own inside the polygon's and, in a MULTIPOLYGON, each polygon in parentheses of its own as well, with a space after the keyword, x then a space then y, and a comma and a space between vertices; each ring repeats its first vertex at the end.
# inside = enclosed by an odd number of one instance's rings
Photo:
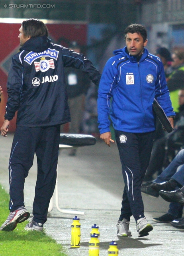
POLYGON ((164 65, 164 72, 165 72, 165 77, 168 78, 168 76, 172 73, 172 66, 171 66, 171 62, 173 61, 171 58, 171 54, 169 52, 169 50, 165 47, 160 47, 157 49, 156 56, 158 56, 163 65, 164 65))

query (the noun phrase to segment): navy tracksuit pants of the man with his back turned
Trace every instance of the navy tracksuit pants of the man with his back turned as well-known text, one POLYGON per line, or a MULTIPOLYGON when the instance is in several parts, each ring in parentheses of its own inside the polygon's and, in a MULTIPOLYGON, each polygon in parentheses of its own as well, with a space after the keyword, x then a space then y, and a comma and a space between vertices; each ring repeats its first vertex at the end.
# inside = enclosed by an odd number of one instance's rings
POLYGON ((37 156, 37 181, 33 202, 34 221, 44 224, 55 189, 60 125, 17 127, 9 162, 10 212, 24 206, 24 182, 37 156))

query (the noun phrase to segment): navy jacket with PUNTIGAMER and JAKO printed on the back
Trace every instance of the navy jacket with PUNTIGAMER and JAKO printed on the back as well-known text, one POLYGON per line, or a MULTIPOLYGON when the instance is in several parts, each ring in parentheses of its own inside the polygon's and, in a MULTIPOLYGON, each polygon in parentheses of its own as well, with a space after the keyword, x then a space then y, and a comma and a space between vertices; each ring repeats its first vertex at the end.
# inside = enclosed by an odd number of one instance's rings
POLYGON ((12 58, 5 119, 12 120, 18 110, 18 126, 69 122, 64 67, 82 70, 98 86, 101 74, 83 54, 53 44, 47 36, 27 40, 12 58))

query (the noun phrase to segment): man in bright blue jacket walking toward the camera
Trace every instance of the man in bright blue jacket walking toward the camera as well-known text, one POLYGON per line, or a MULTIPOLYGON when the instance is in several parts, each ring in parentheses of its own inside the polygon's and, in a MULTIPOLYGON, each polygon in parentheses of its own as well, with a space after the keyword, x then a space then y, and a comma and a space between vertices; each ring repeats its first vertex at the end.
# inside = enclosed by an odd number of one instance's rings
POLYGON ((110 146, 110 120, 122 164, 125 189, 117 234, 131 236, 130 217, 136 221, 139 236, 153 227, 144 215, 141 184, 149 164, 155 134, 153 100, 156 98, 173 127, 175 113, 170 101, 161 60, 149 54, 147 31, 140 24, 125 29, 126 47, 115 50, 106 63, 98 90, 100 138, 110 146))

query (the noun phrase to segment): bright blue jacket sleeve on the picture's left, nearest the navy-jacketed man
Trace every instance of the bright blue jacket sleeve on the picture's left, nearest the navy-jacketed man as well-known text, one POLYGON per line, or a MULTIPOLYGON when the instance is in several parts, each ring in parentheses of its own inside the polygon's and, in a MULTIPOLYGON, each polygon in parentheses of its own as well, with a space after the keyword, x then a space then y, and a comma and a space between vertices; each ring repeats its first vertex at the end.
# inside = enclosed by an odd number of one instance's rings
POLYGON ((112 65, 113 61, 110 58, 106 63, 102 72, 102 77, 98 89, 98 123, 100 134, 110 132, 110 105, 112 98, 112 91, 115 86, 116 70, 112 65))

